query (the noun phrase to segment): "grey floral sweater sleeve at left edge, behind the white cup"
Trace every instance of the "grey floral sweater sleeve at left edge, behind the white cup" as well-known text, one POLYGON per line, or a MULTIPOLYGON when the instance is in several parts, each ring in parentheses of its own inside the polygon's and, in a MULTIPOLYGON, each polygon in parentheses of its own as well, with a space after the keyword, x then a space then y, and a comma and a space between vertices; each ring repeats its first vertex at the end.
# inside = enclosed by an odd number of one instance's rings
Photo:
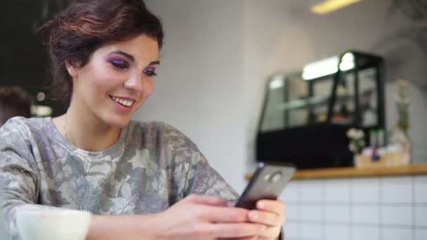
POLYGON ((18 208, 51 208, 36 204, 37 164, 20 128, 11 121, 0 128, 0 221, 5 223, 5 239, 20 239, 16 225, 18 208))

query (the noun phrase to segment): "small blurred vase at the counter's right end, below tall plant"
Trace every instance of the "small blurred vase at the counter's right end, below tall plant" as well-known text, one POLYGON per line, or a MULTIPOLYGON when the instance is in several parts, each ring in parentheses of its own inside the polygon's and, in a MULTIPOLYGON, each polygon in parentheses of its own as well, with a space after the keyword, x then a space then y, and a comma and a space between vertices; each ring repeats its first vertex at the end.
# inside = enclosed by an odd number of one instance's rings
MULTIPOLYGON (((412 161, 412 145, 407 131, 394 128, 389 140, 389 147, 397 153, 398 165, 409 165, 412 161)), ((396 159, 396 158, 394 158, 396 159)))

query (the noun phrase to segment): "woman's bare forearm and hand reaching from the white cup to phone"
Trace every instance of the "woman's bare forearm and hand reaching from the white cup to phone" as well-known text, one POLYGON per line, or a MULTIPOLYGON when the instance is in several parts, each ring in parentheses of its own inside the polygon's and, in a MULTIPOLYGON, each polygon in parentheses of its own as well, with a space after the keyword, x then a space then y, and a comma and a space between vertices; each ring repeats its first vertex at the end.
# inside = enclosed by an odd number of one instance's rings
POLYGON ((152 215, 93 215, 86 240, 247 239, 264 225, 247 222, 247 210, 226 206, 216 196, 191 195, 163 213, 152 215))

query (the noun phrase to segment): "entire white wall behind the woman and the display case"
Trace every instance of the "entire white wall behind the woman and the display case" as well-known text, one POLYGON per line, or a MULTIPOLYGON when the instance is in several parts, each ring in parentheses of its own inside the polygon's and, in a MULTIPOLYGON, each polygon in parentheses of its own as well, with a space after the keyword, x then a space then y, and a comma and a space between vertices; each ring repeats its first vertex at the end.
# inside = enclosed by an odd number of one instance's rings
POLYGON ((410 135, 414 159, 427 161, 427 97, 419 88, 427 68, 410 41, 390 41, 410 24, 400 11, 388 18, 391 2, 362 1, 318 16, 301 0, 146 0, 163 19, 166 38, 155 92, 136 119, 176 126, 240 191, 244 173, 255 166, 268 76, 357 49, 386 56, 389 127, 396 121, 390 83, 404 77, 418 84, 412 86, 410 135))

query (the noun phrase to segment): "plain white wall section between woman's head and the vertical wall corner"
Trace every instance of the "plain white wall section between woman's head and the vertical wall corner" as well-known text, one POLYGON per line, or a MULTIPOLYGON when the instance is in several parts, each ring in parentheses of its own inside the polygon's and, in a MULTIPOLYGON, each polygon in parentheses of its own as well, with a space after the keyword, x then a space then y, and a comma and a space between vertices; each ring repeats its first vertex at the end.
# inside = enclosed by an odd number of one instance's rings
POLYGON ((160 120, 188 135, 211 165, 244 187, 242 1, 149 0, 166 33, 155 91, 136 119, 160 120))

